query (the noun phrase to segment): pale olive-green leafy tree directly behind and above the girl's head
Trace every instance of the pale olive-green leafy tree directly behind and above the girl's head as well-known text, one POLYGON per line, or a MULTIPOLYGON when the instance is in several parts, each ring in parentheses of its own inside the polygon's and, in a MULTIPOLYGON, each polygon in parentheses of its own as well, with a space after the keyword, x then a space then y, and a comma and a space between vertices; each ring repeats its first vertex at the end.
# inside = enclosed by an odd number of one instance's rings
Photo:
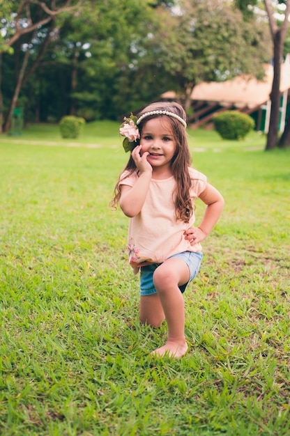
POLYGON ((250 17, 244 21, 228 1, 183 0, 180 6, 173 17, 159 10, 162 24, 155 31, 155 44, 185 109, 201 81, 264 75, 269 38, 263 23, 250 17))

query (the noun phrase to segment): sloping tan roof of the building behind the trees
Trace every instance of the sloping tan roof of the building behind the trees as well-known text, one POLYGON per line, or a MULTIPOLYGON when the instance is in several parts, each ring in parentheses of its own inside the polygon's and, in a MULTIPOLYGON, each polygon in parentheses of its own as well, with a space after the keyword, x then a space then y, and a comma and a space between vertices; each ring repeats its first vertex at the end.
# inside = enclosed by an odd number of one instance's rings
MULTIPOLYGON (((192 100, 219 102, 222 106, 234 104, 236 108, 257 107, 270 98, 273 82, 273 66, 265 65, 265 79, 259 81, 249 76, 237 76, 223 82, 204 82, 194 86, 192 100)), ((281 65, 280 91, 290 89, 290 54, 281 65)), ((174 91, 162 94, 162 98, 174 99, 174 91)))

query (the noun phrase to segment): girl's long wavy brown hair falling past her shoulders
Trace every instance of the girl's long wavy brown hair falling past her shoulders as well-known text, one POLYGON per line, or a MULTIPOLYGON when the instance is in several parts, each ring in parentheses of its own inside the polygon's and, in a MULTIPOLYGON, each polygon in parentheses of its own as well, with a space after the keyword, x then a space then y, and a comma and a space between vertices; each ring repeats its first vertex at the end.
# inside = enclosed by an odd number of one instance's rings
MULTIPOLYGON (((138 116, 142 116, 149 111, 169 111, 174 112, 174 114, 181 116, 183 120, 186 120, 186 115, 183 107, 176 102, 155 102, 146 106, 138 116)), ((184 125, 176 118, 168 115, 150 115, 146 116, 142 122, 138 125, 140 136, 142 133, 142 128, 144 124, 156 117, 166 117, 171 123, 172 134, 174 134, 174 139, 176 141, 176 150, 174 157, 171 160, 171 171, 176 180, 176 188, 174 190, 174 205, 176 212, 176 219, 180 219, 185 223, 188 223, 190 217, 193 213, 192 201, 190 198, 190 187, 192 185, 192 180, 190 179, 190 173, 188 167, 191 164, 190 150, 188 148, 188 138, 186 136, 186 131, 184 125)), ((136 142, 136 146, 139 142, 136 142)), ((136 170, 136 164, 130 156, 127 165, 123 171, 129 171, 129 174, 134 173, 136 170)), ((128 173, 125 177, 128 177, 128 173)), ((123 178, 125 178, 123 177, 123 178)), ((123 178, 119 177, 119 180, 114 189, 114 198, 111 201, 113 208, 119 203, 121 196, 120 182, 123 178)))

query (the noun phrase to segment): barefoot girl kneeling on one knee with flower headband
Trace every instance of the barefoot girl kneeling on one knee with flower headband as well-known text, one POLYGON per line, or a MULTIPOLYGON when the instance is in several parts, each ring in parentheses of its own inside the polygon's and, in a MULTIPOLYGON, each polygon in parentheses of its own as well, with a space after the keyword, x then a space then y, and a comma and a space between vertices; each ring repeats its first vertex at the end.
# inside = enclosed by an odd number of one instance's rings
POLYGON ((185 313, 182 293, 199 271, 204 240, 220 217, 224 200, 190 168, 186 116, 175 102, 149 104, 139 117, 125 118, 120 133, 131 155, 115 187, 130 217, 130 265, 140 272, 140 320, 158 327, 167 322, 167 343, 152 353, 182 357, 185 313), (206 204, 204 218, 194 224, 194 198, 206 204))

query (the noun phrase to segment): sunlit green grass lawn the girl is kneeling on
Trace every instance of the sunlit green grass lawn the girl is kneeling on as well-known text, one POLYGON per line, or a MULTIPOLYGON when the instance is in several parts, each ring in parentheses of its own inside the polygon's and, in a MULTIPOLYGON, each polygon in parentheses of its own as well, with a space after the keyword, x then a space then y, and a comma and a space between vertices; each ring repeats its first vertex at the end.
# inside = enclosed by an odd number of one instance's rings
POLYGON ((0 137, 0 433, 289 436, 290 151, 190 132, 226 205, 185 293, 190 350, 158 360, 166 325, 139 324, 128 219, 109 208, 118 127, 0 137))

